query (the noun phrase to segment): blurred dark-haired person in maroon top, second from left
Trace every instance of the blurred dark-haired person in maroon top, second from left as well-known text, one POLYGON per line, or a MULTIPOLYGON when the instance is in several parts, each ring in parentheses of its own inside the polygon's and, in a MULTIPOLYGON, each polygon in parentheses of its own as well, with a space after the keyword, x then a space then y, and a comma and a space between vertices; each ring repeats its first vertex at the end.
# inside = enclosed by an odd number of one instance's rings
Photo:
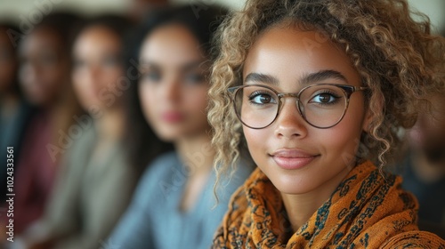
POLYGON ((52 13, 20 39, 20 85, 36 112, 16 161, 16 236, 44 212, 61 158, 70 146, 69 124, 78 108, 69 84, 69 47, 77 20, 74 14, 52 13))

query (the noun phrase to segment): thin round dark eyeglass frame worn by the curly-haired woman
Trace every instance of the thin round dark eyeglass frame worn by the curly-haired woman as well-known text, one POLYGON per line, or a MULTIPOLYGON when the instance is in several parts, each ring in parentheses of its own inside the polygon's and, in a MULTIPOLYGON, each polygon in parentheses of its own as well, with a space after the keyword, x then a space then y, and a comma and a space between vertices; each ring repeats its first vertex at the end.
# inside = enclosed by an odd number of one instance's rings
POLYGON ((279 116, 279 112, 281 111, 281 108, 283 107, 283 101, 281 99, 286 98, 286 97, 296 98, 295 102, 296 102, 296 107, 298 109, 298 113, 300 114, 300 116, 303 117, 304 121, 307 124, 311 124, 313 127, 319 128, 319 129, 328 129, 328 128, 334 127, 334 126, 336 126, 336 124, 340 123, 343 120, 344 115, 346 114, 346 110, 349 107, 349 100, 351 99, 352 93, 359 92, 359 91, 364 91, 364 90, 367 90, 367 89, 368 89, 367 86, 353 86, 353 85, 349 85, 349 84, 323 84, 323 83, 321 83, 321 84, 310 84, 308 86, 305 86, 299 92, 277 92, 275 89, 271 88, 268 85, 264 85, 264 84, 242 84, 242 85, 229 87, 227 89, 227 91, 231 93, 231 101, 232 101, 233 108, 235 110, 235 113, 237 114, 237 117, 238 117, 239 121, 242 124, 246 125, 247 127, 251 128, 251 129, 260 130, 260 129, 264 129, 264 128, 268 127, 269 125, 273 124, 273 122, 275 122, 275 120, 277 120, 277 117, 279 116), (342 116, 340 116, 340 118, 336 121, 335 124, 329 125, 327 127, 322 127, 322 126, 311 124, 311 122, 309 122, 306 119, 306 117, 303 115, 303 111, 302 111, 302 108, 300 106, 300 103, 301 103, 300 95, 302 94, 302 92, 304 90, 308 89, 308 88, 313 87, 313 86, 320 86, 320 85, 336 86, 336 87, 340 88, 344 92, 344 96, 345 96, 345 99, 344 99, 345 106, 344 106, 344 111, 343 111, 342 116), (241 90, 243 88, 246 88, 246 87, 249 87, 249 86, 260 86, 260 87, 267 88, 267 89, 271 90, 271 92, 274 92, 279 97, 279 101, 278 101, 279 107, 277 109, 277 114, 273 117, 273 119, 272 119, 270 124, 264 125, 262 127, 253 127, 251 125, 246 124, 241 119, 240 113, 237 110, 237 103, 236 103, 235 98, 236 98, 237 93, 239 92, 239 90, 241 90))

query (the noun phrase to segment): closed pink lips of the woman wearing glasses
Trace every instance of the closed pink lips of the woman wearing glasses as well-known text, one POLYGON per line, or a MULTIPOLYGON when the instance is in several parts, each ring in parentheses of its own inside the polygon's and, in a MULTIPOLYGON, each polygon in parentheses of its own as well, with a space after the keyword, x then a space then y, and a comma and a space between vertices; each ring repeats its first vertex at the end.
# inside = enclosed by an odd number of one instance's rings
POLYGON ((271 154, 273 161, 275 161, 280 168, 286 170, 303 168, 319 156, 320 155, 312 155, 299 149, 279 149, 271 154))

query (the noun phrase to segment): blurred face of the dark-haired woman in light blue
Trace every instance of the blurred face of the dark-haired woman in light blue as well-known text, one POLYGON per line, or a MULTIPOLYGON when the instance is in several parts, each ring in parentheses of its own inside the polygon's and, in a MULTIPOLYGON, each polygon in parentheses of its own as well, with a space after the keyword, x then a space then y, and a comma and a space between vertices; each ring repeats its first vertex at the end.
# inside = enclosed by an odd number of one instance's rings
POLYGON ((146 37, 140 54, 142 109, 158 136, 176 141, 206 133, 208 66, 187 28, 169 25, 146 37))

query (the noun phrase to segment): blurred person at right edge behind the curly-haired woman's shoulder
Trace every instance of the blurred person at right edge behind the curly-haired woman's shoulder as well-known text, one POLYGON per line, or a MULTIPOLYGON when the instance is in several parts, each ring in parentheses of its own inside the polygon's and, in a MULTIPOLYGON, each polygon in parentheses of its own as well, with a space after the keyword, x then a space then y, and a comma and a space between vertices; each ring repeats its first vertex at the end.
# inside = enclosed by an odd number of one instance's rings
POLYGON ((419 202, 419 227, 445 238, 445 100, 434 94, 409 130, 409 153, 398 169, 419 202))

